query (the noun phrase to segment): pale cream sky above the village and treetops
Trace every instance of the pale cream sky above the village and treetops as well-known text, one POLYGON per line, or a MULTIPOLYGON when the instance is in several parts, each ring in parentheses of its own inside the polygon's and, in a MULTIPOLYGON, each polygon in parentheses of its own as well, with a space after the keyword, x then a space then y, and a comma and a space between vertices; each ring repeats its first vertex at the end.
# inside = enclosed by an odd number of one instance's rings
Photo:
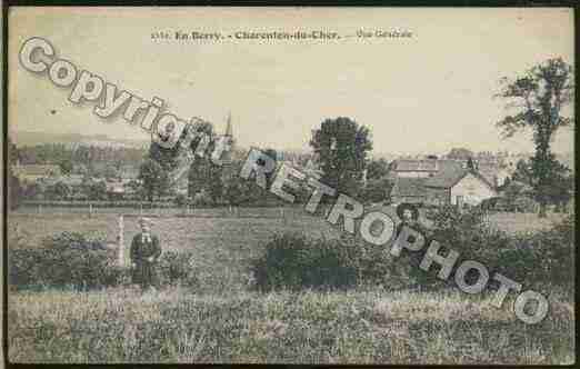
MULTIPOLYGON (((11 8, 9 131, 148 139, 122 118, 102 120, 18 61, 31 37, 143 99, 163 99, 218 132, 231 112, 239 146, 307 149, 327 118, 372 132, 373 151, 533 151, 530 133, 501 140, 494 99, 502 77, 549 58, 573 64, 573 12, 559 8, 11 8), (357 31, 407 30, 411 38, 359 39, 357 31), (153 40, 168 32, 332 31, 338 40, 153 40), (350 36, 350 37, 347 37, 350 36)), ((571 108, 566 113, 572 113, 571 108)), ((553 151, 573 151, 561 130, 553 151)))

